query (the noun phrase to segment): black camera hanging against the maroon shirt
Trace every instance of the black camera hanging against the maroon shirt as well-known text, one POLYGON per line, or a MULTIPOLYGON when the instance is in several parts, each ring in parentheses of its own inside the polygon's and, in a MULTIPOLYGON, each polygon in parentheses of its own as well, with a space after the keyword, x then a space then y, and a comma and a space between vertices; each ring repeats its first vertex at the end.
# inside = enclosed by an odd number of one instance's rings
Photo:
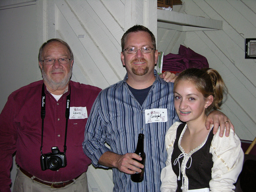
POLYGON ((58 147, 52 147, 52 153, 42 154, 40 157, 41 169, 51 169, 57 171, 67 166, 67 158, 64 152, 60 152, 58 147))

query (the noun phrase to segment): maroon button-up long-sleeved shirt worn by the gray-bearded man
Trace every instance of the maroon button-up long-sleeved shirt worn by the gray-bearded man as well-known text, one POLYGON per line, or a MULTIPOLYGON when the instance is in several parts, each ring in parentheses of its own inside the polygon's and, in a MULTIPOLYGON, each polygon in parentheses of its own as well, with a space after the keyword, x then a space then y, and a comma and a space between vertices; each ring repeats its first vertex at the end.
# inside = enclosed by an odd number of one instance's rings
MULTIPOLYGON (((49 182, 72 180, 86 172, 91 160, 84 154, 82 142, 87 118, 68 119, 67 166, 58 171, 41 170, 41 94, 43 81, 31 83, 13 92, 0 115, 0 191, 10 190, 12 154, 16 151, 16 163, 35 177, 49 182)), ((100 88, 70 81, 68 92, 56 101, 46 90, 46 114, 44 119, 43 153, 52 152, 57 146, 63 152, 65 139, 65 109, 67 95, 70 107, 86 107, 91 111, 100 88)))

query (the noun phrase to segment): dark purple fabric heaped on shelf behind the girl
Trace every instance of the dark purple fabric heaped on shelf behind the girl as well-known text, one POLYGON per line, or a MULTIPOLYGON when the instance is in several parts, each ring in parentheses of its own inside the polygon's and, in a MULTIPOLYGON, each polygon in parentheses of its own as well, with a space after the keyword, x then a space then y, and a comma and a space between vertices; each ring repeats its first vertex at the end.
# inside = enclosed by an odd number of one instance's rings
POLYGON ((187 68, 209 68, 209 64, 204 56, 183 45, 180 45, 179 54, 164 55, 162 72, 181 72, 187 68))

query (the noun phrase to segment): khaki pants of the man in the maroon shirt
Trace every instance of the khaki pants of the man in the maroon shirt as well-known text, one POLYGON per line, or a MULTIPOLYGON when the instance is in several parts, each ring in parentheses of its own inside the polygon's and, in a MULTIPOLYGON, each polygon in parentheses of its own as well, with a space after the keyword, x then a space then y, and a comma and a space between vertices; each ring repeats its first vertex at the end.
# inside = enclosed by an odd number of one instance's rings
POLYGON ((63 188, 51 188, 50 186, 38 183, 24 175, 20 169, 17 171, 13 192, 89 192, 86 172, 78 179, 63 188))

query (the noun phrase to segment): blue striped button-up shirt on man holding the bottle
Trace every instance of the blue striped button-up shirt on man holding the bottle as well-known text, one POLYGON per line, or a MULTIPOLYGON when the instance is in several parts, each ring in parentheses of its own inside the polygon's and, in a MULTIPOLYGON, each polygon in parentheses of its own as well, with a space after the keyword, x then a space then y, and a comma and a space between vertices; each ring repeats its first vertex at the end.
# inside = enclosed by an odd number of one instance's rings
POLYGON ((144 180, 135 183, 131 181, 131 175, 113 169, 113 191, 160 191, 160 174, 167 158, 165 132, 179 118, 174 109, 173 83, 166 83, 156 70, 154 73, 156 80, 142 106, 128 89, 126 74, 123 81, 100 92, 88 118, 83 148, 96 167, 104 167, 98 164, 98 160, 106 151, 120 155, 134 152, 138 134, 145 135, 144 180), (166 108, 167 122, 146 123, 145 109, 153 108, 166 108), (104 145, 105 142, 111 149, 104 145))

